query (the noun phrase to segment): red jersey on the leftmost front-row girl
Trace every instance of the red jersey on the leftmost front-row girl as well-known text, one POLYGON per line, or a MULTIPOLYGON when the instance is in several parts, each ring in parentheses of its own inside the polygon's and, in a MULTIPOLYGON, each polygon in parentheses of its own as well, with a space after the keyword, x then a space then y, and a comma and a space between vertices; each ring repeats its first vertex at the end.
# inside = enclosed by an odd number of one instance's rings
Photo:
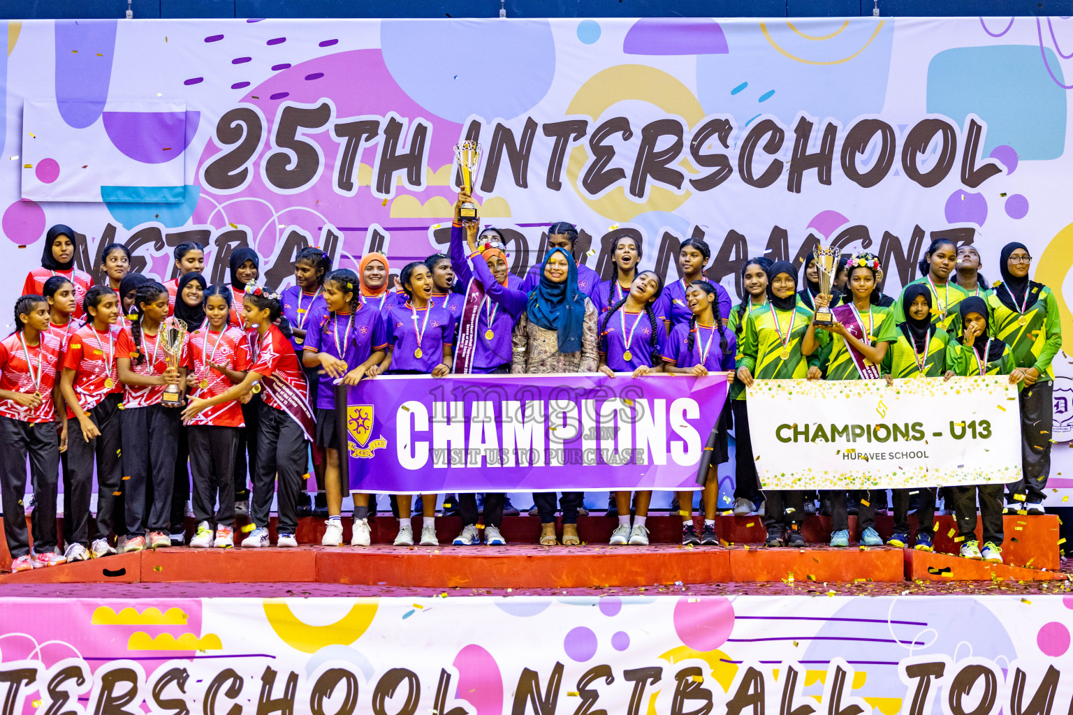
POLYGON ((53 387, 60 361, 60 341, 48 333, 41 334, 38 345, 26 345, 23 333, 15 332, 0 341, 0 389, 13 392, 41 392, 41 404, 31 411, 14 400, 0 400, 0 415, 24 422, 56 421, 53 387), (27 364, 26 356, 30 361, 27 364), (32 368, 31 368, 32 366, 32 368), (39 375, 40 385, 34 376, 39 375), (32 369, 32 374, 31 374, 32 369))

